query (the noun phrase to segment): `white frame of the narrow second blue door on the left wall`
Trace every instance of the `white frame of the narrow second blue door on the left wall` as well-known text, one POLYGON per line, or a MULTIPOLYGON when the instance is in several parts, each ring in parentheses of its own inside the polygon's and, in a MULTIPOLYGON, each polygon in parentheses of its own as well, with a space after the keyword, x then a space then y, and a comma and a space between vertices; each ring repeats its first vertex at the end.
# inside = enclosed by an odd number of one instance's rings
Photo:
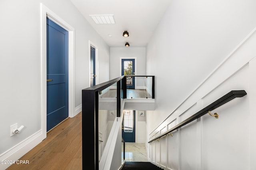
POLYGON ((88 59, 89 59, 89 62, 88 62, 88 73, 89 73, 89 84, 88 84, 88 87, 91 87, 91 79, 90 79, 90 73, 91 73, 91 46, 95 48, 95 85, 97 85, 99 83, 99 61, 98 61, 98 53, 99 53, 99 48, 98 46, 91 42, 89 40, 89 56, 88 56, 88 59))

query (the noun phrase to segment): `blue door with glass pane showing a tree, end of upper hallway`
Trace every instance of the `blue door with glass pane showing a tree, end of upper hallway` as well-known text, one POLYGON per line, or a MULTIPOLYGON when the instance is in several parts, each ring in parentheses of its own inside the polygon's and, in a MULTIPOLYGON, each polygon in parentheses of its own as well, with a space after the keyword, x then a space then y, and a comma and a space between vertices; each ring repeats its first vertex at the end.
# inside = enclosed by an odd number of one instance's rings
MULTIPOLYGON (((135 59, 122 59, 122 75, 135 74, 135 59)), ((126 77, 126 88, 135 89, 135 77, 126 77)))

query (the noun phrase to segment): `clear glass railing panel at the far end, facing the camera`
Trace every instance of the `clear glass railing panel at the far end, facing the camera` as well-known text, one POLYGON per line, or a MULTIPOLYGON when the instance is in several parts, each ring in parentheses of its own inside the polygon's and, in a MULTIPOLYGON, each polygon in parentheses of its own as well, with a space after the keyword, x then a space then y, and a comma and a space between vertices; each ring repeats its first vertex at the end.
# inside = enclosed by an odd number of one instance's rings
POLYGON ((126 76, 127 99, 154 99, 152 76, 126 76))

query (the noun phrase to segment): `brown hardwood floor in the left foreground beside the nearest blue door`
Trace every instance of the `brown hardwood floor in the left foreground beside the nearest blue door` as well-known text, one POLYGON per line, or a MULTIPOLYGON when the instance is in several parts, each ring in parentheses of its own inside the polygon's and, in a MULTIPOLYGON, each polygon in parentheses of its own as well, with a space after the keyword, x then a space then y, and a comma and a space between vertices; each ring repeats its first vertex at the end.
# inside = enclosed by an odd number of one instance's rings
POLYGON ((82 113, 50 130, 19 160, 29 164, 12 164, 6 170, 82 170, 82 113))

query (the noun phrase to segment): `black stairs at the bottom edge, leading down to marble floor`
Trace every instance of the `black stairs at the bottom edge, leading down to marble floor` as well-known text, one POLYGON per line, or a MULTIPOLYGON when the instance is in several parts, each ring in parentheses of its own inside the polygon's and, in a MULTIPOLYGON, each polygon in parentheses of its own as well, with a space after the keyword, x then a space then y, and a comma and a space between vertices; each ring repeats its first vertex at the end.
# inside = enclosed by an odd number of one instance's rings
POLYGON ((121 170, 163 170, 150 162, 125 162, 121 170))

